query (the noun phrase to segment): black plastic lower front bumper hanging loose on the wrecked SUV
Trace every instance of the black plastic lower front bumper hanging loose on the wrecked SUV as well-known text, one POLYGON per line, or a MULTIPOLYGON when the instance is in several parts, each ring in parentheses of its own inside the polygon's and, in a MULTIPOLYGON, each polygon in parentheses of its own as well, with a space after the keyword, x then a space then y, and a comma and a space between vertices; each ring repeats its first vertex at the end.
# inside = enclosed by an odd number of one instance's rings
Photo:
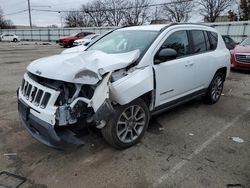
POLYGON ((50 147, 62 147, 64 142, 54 127, 31 114, 30 107, 21 99, 18 100, 18 112, 22 125, 36 140, 50 147))

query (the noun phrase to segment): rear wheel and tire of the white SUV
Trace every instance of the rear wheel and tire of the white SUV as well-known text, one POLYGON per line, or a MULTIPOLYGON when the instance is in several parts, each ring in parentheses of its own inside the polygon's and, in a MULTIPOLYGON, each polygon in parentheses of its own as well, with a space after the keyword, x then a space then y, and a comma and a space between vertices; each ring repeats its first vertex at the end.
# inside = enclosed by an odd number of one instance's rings
POLYGON ((223 91, 224 81, 225 76, 221 72, 215 74, 208 87, 207 93, 203 98, 206 104, 215 104, 219 101, 221 93, 223 91))

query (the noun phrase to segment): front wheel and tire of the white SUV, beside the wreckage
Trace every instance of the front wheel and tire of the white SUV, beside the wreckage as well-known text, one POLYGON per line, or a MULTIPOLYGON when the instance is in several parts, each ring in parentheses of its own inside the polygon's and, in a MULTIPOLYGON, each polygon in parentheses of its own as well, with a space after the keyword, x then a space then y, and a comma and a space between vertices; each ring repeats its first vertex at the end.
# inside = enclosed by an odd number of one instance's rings
POLYGON ((147 105, 142 99, 136 99, 115 108, 115 115, 102 129, 102 135, 111 146, 125 149, 140 141, 148 128, 148 122, 147 105))

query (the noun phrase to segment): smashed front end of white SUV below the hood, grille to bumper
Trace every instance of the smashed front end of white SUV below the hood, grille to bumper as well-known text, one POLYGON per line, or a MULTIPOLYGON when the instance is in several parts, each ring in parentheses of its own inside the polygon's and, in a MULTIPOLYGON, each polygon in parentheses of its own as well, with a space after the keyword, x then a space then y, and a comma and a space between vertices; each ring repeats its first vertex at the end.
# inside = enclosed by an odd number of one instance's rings
POLYGON ((97 85, 74 84, 26 73, 18 90, 21 122, 31 135, 50 147, 82 145, 75 129, 103 127, 113 113, 109 99, 111 73, 97 85))

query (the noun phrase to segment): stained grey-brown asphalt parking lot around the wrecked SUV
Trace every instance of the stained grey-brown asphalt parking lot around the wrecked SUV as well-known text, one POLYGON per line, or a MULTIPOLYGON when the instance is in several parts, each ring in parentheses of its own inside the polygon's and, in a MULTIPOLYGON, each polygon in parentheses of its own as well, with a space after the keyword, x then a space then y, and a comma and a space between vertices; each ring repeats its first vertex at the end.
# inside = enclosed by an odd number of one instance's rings
MULTIPOLYGON (((20 125, 16 89, 32 60, 62 50, 56 44, 0 43, 0 173, 27 178, 21 188, 250 187, 250 71, 232 72, 215 105, 197 99, 154 117, 134 147, 115 150, 85 130, 85 146, 60 151, 38 143, 20 125)), ((4 183, 0 175, 0 187, 4 183)))

